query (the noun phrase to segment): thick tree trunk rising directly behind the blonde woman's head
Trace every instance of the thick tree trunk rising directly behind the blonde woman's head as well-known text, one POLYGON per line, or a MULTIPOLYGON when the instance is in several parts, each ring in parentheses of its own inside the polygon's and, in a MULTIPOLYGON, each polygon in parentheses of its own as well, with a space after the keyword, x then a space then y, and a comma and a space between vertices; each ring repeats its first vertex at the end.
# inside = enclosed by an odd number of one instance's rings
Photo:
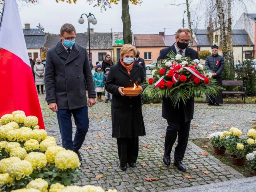
POLYGON ((131 18, 129 14, 128 0, 122 0, 122 21, 124 44, 132 44, 131 18))

